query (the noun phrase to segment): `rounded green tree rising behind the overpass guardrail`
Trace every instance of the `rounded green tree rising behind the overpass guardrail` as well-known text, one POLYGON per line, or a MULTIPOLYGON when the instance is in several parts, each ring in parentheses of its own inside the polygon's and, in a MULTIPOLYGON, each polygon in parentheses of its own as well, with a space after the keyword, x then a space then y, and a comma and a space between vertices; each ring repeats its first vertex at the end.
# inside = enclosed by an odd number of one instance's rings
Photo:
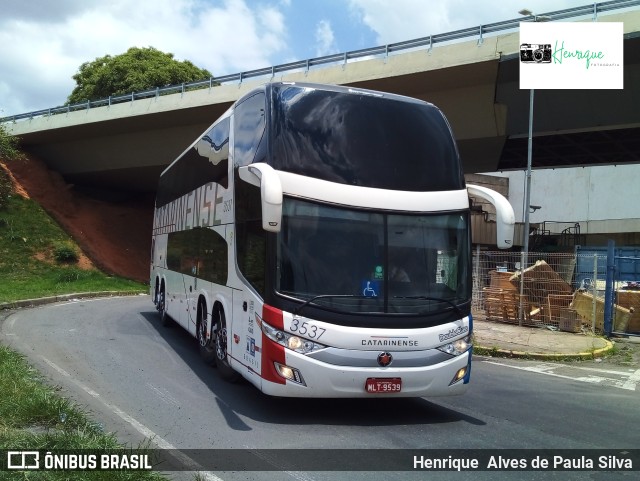
POLYGON ((179 85, 211 76, 209 71, 196 67, 188 60, 175 60, 172 53, 164 53, 153 47, 132 47, 123 54, 113 57, 105 55, 80 65, 78 73, 73 76, 76 87, 67 103, 179 85))

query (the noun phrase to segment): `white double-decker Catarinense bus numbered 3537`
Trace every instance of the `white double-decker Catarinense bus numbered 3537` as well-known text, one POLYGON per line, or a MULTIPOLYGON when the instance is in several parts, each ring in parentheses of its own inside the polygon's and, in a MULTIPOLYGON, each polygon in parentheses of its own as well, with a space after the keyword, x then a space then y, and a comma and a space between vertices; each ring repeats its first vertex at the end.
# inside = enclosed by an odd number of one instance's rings
POLYGON ((151 294, 223 378, 275 396, 461 394, 472 352, 469 192, 442 112, 270 83, 161 175, 151 294))

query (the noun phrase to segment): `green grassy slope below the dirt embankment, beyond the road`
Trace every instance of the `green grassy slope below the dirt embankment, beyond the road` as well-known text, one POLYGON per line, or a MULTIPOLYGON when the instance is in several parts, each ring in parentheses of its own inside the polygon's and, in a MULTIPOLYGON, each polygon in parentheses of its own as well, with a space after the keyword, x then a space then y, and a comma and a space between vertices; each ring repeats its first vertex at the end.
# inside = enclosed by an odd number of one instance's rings
POLYGON ((11 195, 0 209, 0 303, 59 294, 146 292, 141 283, 78 266, 78 247, 33 200, 11 195))

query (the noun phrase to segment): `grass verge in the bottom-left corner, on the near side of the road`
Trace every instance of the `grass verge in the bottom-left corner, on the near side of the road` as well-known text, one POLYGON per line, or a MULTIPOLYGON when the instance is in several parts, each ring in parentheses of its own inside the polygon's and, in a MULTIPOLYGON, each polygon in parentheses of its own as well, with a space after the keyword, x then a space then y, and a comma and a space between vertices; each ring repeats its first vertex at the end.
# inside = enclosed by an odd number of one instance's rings
MULTIPOLYGON (((15 351, 0 345, 0 451, 129 450, 47 386, 15 351)), ((4 460, 2 460, 4 461, 4 460)), ((0 462, 0 465, 2 463, 0 462)), ((1 471, 2 479, 164 480, 151 471, 1 471)))

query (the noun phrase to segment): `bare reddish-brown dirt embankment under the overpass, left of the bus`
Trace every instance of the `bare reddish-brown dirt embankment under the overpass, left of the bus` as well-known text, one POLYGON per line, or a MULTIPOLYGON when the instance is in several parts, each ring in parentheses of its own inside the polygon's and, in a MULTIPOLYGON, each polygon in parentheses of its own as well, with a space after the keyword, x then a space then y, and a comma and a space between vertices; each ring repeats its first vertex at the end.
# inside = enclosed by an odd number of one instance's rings
POLYGON ((108 202, 78 192, 37 159, 6 164, 19 189, 38 202, 109 274, 149 281, 153 197, 108 202))

